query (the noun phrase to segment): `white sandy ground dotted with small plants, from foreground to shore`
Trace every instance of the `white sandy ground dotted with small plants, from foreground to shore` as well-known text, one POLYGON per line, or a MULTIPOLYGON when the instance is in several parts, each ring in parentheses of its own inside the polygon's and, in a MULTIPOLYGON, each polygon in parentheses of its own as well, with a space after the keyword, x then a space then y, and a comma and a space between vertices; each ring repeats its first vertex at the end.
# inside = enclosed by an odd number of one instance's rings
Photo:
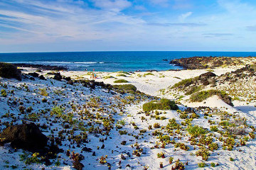
MULTIPOLYGON (((95 81, 113 86, 132 84, 137 91, 146 95, 119 94, 119 91, 100 86, 90 89, 78 83, 92 80, 91 72, 60 71, 63 79, 71 78, 73 83, 70 84, 70 81, 53 79, 53 71, 42 70, 37 72, 36 77, 28 76, 36 72, 36 68, 23 67, 22 73, 27 76, 22 81, 1 78, 1 89, 8 91, 6 97, 1 97, 1 129, 10 120, 14 124, 22 120, 41 127, 44 125, 47 128, 42 129, 43 134, 49 137, 53 135, 55 142, 60 141, 56 144, 62 151, 56 152, 58 157, 50 159, 51 164, 46 166, 46 163, 22 161, 21 155, 27 160, 32 157, 40 162, 40 159, 30 156, 30 152, 12 149, 6 144, 0 149, 0 165, 4 168, 15 164, 18 169, 24 166, 31 169, 73 169, 76 167, 75 156, 67 152, 74 152, 82 155, 79 162, 85 169, 159 169, 161 164, 163 169, 200 169, 201 166, 204 169, 254 169, 255 91, 250 97, 243 97, 241 93, 249 93, 251 89, 240 82, 245 80, 250 88, 255 89, 255 74, 251 75, 247 70, 239 71, 251 76, 221 83, 223 77, 226 79, 225 75, 233 77, 235 70, 244 67, 164 72, 95 72, 95 81), (240 95, 237 93, 234 96, 235 91, 232 94, 226 90, 233 106, 216 92, 203 101, 191 102, 193 94, 188 95, 188 89, 174 88, 188 79, 193 79, 189 86, 203 86, 199 83, 201 77, 208 74, 214 75, 217 83, 214 86, 206 85, 201 91, 236 86, 240 95), (38 79, 40 75, 46 80, 38 79), (127 82, 114 82, 120 79, 127 82), (14 91, 14 94, 10 94, 10 91, 14 91), (178 110, 143 111, 144 103, 156 97, 176 101, 178 110), (20 103, 19 106, 14 101, 20 103), (60 107, 60 115, 53 113, 55 107, 60 107), (64 115, 71 117, 67 120, 64 115), (175 128, 173 121, 178 123, 179 128, 175 128), (195 136, 189 127, 202 128, 203 135, 195 136), (84 142, 78 142, 81 141, 80 137, 85 137, 84 142), (161 140, 162 137, 166 138, 161 140), (207 144, 205 140, 210 142, 207 144), (227 143, 228 140, 234 142, 227 143)), ((207 79, 210 81, 213 77, 207 79)))

